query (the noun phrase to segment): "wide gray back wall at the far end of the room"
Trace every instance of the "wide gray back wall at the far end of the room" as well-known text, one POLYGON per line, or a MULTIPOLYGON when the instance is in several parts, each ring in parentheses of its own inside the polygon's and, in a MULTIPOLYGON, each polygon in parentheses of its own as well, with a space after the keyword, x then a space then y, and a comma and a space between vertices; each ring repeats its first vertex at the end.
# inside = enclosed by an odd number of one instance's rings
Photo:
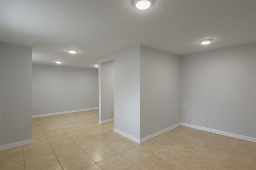
POLYGON ((98 107, 98 69, 32 64, 32 115, 98 107))

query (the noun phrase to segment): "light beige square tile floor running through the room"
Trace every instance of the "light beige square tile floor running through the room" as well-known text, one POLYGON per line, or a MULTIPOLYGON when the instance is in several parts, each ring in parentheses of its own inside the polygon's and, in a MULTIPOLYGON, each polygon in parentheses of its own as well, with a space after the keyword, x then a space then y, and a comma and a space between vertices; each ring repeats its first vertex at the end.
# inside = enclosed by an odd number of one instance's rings
POLYGON ((178 127, 137 144, 98 110, 32 119, 33 144, 0 152, 1 170, 256 170, 256 143, 178 127))

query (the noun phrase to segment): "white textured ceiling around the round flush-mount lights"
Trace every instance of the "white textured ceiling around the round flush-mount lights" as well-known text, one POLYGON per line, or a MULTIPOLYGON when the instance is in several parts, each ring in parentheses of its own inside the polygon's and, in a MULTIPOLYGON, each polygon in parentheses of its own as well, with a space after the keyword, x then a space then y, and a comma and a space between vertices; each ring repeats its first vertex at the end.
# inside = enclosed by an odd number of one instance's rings
POLYGON ((38 64, 94 68, 138 44, 186 55, 256 42, 256 1, 154 0, 138 10, 132 0, 1 0, 0 8, 1 42, 32 47, 38 64))

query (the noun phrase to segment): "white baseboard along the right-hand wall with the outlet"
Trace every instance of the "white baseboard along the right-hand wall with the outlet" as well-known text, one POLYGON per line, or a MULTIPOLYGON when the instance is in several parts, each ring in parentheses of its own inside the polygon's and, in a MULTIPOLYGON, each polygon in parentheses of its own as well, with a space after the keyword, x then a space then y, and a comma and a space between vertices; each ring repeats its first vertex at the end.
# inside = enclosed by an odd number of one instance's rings
POLYGON ((247 140, 247 141, 250 141, 250 142, 256 142, 256 138, 253 138, 253 137, 250 137, 250 136, 244 136, 244 135, 241 135, 241 134, 224 132, 224 131, 215 130, 215 129, 212 129, 212 128, 200 127, 200 126, 191 125, 191 124, 188 124, 188 123, 181 123, 181 125, 184 126, 184 127, 190 127, 190 128, 195 128, 195 129, 199 129, 199 130, 204 130, 206 132, 212 132, 212 133, 221 134, 221 135, 224 135, 224 136, 229 136, 229 137, 232 137, 232 138, 238 138, 238 139, 247 140))

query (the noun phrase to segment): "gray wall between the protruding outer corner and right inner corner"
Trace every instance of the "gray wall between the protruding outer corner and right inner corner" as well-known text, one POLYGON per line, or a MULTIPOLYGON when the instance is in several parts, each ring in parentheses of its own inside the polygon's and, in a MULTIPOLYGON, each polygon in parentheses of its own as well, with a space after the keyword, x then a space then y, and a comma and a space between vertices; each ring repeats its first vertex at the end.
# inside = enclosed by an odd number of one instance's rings
POLYGON ((140 138, 180 121, 180 57, 140 45, 140 138))

